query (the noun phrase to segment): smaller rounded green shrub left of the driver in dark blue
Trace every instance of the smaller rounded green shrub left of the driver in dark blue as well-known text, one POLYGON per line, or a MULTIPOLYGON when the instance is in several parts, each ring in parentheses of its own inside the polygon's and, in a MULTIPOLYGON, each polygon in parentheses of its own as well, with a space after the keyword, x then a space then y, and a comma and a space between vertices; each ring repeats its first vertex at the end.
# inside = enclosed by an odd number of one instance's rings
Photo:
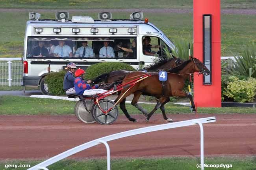
POLYGON ((45 82, 48 84, 48 90, 53 95, 64 95, 63 79, 67 71, 52 72, 45 77, 45 82))

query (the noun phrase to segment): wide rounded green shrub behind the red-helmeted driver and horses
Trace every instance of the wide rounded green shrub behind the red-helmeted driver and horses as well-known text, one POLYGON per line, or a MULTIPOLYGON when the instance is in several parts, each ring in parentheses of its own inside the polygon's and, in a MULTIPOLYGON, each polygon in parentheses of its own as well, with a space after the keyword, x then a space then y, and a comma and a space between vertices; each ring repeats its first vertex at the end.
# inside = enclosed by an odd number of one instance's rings
POLYGON ((123 62, 100 62, 93 64, 86 69, 85 78, 87 80, 92 80, 103 73, 110 73, 111 71, 120 69, 135 71, 132 66, 123 62))

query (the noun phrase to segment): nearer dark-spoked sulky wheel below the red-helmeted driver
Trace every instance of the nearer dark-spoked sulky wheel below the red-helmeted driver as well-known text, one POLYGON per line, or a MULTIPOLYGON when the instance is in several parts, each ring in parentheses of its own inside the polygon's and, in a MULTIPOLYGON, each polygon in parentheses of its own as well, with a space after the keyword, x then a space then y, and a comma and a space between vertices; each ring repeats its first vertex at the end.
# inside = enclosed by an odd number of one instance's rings
MULTIPOLYGON (((114 106, 114 102, 108 100, 108 99, 104 99, 101 100, 99 102, 100 108, 102 108, 102 110, 109 110, 111 107, 114 106)), ((113 122, 115 122, 115 120, 117 120, 118 117, 118 108, 117 106, 114 106, 108 113, 104 114, 101 110, 100 110, 98 104, 94 104, 93 105, 93 109, 92 109, 92 113, 93 113, 93 117, 94 119, 100 123, 100 124, 112 124, 113 122)))

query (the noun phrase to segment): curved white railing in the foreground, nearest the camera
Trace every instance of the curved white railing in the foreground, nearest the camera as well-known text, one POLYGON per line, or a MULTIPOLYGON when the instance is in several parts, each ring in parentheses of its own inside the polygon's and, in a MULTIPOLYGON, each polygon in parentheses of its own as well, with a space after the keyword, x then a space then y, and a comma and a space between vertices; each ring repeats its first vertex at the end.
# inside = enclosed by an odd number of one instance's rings
MULTIPOLYGON (((149 126, 149 127, 145 127, 145 128, 139 128, 139 129, 135 129, 135 130, 129 130, 126 132, 116 133, 113 135, 95 139, 93 141, 76 146, 70 150, 67 150, 67 151, 59 154, 59 155, 56 155, 50 159, 47 159, 46 161, 43 161, 42 163, 39 163, 39 164, 33 166, 32 168, 29 168, 28 170, 41 170, 41 169, 48 170, 48 168, 46 168, 47 166, 52 165, 53 163, 56 163, 66 157, 69 157, 70 155, 81 152, 82 150, 96 146, 100 143, 103 143, 106 146, 107 169, 110 170, 110 149, 109 149, 109 146, 107 143, 108 141, 113 141, 113 140, 120 139, 123 137, 138 135, 138 134, 142 134, 142 133, 155 132, 158 130, 166 130, 166 129, 171 129, 171 128, 184 127, 184 126, 191 126, 191 125, 195 125, 195 124, 198 124, 200 127, 200 159, 201 159, 200 164, 201 164, 201 170, 204 170, 204 130, 203 130, 202 124, 215 122, 215 121, 216 121, 215 117, 206 117, 206 118, 201 118, 201 119, 192 119, 192 120, 188 120, 188 121, 160 124, 160 125, 156 125, 156 126, 149 126)), ((109 126, 111 126, 111 125, 109 125, 109 126)))

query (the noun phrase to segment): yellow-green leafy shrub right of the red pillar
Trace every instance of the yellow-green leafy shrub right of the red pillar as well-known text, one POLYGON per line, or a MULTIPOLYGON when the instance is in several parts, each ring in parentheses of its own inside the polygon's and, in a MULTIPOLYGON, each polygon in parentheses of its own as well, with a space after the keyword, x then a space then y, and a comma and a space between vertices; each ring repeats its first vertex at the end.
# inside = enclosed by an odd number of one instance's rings
POLYGON ((256 94, 256 79, 230 76, 223 79, 223 98, 226 96, 235 102, 252 102, 256 94))

